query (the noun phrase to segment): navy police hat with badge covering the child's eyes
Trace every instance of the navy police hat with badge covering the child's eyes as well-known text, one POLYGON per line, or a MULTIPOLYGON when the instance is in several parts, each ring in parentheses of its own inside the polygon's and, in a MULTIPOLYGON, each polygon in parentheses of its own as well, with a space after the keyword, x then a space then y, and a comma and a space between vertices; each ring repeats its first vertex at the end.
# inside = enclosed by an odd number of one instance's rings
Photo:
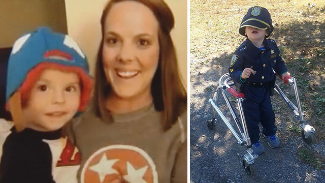
POLYGON ((269 37, 273 32, 271 15, 269 11, 263 7, 255 6, 248 9, 247 14, 244 16, 239 28, 239 34, 243 36, 246 36, 245 26, 251 26, 264 30, 268 29, 269 34, 266 36, 266 38, 269 37))

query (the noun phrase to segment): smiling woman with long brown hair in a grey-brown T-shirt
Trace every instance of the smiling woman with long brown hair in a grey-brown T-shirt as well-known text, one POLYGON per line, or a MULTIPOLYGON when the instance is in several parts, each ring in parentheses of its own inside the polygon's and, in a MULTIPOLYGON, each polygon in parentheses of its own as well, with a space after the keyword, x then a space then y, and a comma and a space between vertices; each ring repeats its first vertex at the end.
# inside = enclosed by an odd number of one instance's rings
POLYGON ((80 182, 187 181, 187 94, 173 27, 162 0, 106 5, 93 102, 70 129, 80 182))

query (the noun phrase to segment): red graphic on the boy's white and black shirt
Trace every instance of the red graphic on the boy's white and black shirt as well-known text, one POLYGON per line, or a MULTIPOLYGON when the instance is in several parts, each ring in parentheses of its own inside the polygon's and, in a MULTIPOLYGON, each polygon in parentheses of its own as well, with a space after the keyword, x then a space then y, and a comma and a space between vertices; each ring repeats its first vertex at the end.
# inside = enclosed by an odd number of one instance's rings
POLYGON ((72 166, 80 164, 80 155, 77 148, 67 139, 66 146, 64 146, 60 160, 57 161, 56 166, 72 166))

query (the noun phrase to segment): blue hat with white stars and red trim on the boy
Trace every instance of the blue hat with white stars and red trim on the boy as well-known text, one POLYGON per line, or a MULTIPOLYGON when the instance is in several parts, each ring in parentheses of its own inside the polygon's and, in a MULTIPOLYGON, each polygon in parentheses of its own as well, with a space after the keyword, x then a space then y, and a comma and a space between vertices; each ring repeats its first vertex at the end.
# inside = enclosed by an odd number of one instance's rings
MULTIPOLYGON (((86 102, 88 102, 92 79, 89 76, 85 54, 71 37, 52 32, 48 27, 39 27, 35 32, 18 38, 14 43, 8 60, 7 102, 25 82, 28 73, 43 63, 45 67, 46 64, 56 64, 60 67, 73 68, 72 70, 77 68, 82 86, 87 90, 86 102)), ((85 93, 85 90, 82 90, 82 93, 85 93)))

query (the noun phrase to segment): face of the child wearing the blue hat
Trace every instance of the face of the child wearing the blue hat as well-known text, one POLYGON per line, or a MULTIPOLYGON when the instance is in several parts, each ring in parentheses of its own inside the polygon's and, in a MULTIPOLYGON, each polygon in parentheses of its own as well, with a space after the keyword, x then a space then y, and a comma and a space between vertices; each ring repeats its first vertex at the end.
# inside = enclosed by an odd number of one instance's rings
POLYGON ((32 87, 22 112, 27 128, 54 131, 75 115, 79 103, 79 76, 73 72, 45 69, 32 87))

